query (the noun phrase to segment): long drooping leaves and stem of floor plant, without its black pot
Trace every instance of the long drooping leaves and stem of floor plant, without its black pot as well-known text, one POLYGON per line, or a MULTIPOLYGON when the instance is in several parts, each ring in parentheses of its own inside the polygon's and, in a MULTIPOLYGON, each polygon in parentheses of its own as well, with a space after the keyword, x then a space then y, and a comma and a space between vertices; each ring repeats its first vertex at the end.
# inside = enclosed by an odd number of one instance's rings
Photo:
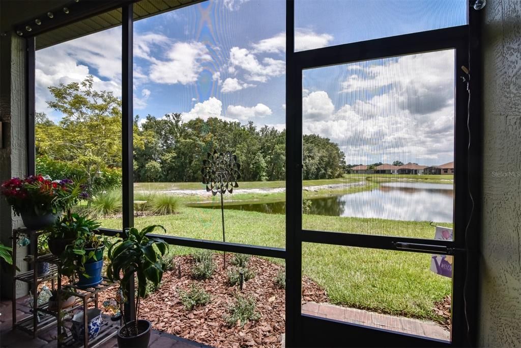
MULTIPOLYGON (((118 280, 123 291, 123 297, 129 298, 129 282, 134 274, 138 277, 137 296, 135 298, 135 322, 139 319, 139 308, 141 298, 146 294, 146 284, 150 281, 158 286, 163 279, 165 264, 161 258, 168 251, 168 244, 160 238, 148 238, 147 233, 153 232, 156 227, 163 229, 160 225, 144 227, 141 231, 132 227, 125 229, 121 238, 111 244, 108 248, 107 277, 114 281, 118 280)), ((123 316, 125 319, 125 316, 123 316)), ((127 334, 130 329, 125 321, 127 334)), ((138 326, 134 325, 135 335, 138 334, 138 326)))

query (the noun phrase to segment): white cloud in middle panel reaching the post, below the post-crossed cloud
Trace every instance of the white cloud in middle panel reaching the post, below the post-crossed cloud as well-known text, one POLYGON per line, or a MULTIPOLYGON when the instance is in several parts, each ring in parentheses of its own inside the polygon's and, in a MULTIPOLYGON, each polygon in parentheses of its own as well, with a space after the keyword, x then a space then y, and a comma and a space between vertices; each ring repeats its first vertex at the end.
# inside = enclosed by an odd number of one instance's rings
POLYGON ((230 68, 234 71, 236 67, 246 71, 245 78, 247 80, 258 82, 266 82, 270 77, 281 76, 286 73, 284 61, 265 57, 261 64, 255 54, 249 50, 232 47, 230 50, 230 68))

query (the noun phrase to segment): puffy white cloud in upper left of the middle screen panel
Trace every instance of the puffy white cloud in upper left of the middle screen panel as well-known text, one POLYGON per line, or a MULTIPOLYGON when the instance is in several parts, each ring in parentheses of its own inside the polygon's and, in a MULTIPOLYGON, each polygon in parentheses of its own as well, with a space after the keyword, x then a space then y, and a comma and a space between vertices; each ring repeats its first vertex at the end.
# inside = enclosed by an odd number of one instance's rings
POLYGON ((168 60, 162 61, 151 57, 150 79, 169 85, 181 83, 187 85, 197 81, 203 70, 202 63, 211 61, 208 49, 201 42, 176 42, 166 54, 168 60))

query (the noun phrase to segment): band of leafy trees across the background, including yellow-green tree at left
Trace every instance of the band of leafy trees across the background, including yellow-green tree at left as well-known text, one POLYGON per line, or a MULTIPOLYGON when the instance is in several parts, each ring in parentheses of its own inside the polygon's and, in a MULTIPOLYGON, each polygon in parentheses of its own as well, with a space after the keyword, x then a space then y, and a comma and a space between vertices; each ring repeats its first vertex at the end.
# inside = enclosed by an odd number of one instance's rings
MULTIPOLYGON (((49 87, 49 107, 63 117, 57 123, 36 115, 37 170, 43 174, 82 175, 91 186, 114 183, 121 173, 121 101, 97 91, 93 78, 49 87), (110 178, 105 176, 110 174, 110 178)), ((198 182, 206 152, 231 151, 241 163, 243 181, 286 179, 286 130, 241 125, 219 118, 183 121, 181 114, 134 118, 135 182, 198 182)), ((336 143, 318 135, 303 136, 303 178, 327 179, 347 170, 336 143)))

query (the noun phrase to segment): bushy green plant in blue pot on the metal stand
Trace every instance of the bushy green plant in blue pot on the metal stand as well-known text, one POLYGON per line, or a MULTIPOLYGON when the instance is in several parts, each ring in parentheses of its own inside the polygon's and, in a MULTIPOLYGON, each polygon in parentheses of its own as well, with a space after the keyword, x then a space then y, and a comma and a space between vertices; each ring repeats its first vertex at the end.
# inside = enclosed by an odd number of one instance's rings
POLYGON ((76 285, 80 287, 100 284, 103 279, 101 273, 105 248, 105 239, 96 235, 100 223, 78 214, 70 214, 70 220, 67 214, 61 220, 53 233, 56 234, 57 231, 70 241, 60 253, 61 273, 78 278, 76 285))

